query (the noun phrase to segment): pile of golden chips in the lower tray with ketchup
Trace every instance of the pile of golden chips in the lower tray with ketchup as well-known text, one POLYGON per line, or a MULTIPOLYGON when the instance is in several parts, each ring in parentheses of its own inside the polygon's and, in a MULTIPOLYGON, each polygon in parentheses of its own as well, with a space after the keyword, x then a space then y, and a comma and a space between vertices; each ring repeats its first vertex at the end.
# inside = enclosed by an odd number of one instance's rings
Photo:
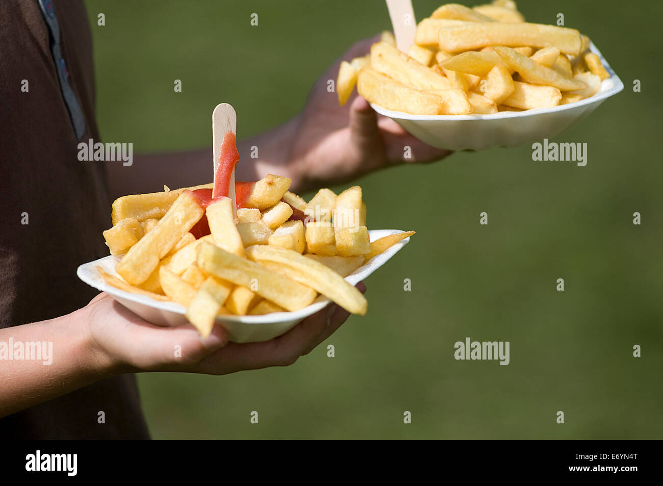
POLYGON ((321 189, 307 203, 288 191, 290 179, 269 174, 236 212, 229 198, 200 204, 194 191, 211 187, 115 200, 103 236, 121 258, 117 276, 98 268, 117 288, 182 304, 202 335, 217 316, 294 311, 319 294, 363 315, 365 297, 343 277, 414 233, 371 243, 359 186, 321 189), (190 230, 203 217, 209 234, 196 239, 190 230))

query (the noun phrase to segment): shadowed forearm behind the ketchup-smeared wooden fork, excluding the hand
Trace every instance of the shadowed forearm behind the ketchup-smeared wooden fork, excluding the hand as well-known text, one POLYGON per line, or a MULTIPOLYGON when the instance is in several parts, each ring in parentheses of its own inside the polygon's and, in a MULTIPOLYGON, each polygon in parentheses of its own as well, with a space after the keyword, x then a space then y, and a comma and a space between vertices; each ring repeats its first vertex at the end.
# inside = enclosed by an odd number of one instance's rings
MULTIPOLYGON (((291 160, 292 145, 299 127, 299 117, 259 135, 237 142, 240 162, 235 180, 249 181, 269 173, 292 179, 293 190, 302 181, 299 164, 291 160), (256 149, 253 149, 255 147, 256 149), (255 158, 257 152, 257 158, 255 158)), ((113 199, 126 194, 159 192, 212 182, 211 147, 183 152, 137 154, 131 166, 109 164, 109 184, 113 199)))

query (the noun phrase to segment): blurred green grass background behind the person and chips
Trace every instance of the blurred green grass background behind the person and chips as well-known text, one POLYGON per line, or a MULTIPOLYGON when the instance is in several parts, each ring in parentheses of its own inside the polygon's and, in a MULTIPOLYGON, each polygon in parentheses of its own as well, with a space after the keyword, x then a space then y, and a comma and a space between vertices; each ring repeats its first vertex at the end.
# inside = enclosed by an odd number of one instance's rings
MULTIPOLYGON (((219 101, 237 109, 240 137, 274 127, 353 42, 390 27, 379 0, 87 3, 101 135, 135 151, 208 146, 219 101)), ((438 5, 414 0, 418 19, 438 5)), ((367 280, 369 314, 291 367, 140 375, 154 438, 663 437, 663 7, 518 7, 532 22, 564 13, 625 84, 554 138, 587 142, 587 166, 532 162, 526 145, 361 178, 369 227, 417 231, 367 280), (455 361, 467 336, 510 341, 511 364, 455 361)))

